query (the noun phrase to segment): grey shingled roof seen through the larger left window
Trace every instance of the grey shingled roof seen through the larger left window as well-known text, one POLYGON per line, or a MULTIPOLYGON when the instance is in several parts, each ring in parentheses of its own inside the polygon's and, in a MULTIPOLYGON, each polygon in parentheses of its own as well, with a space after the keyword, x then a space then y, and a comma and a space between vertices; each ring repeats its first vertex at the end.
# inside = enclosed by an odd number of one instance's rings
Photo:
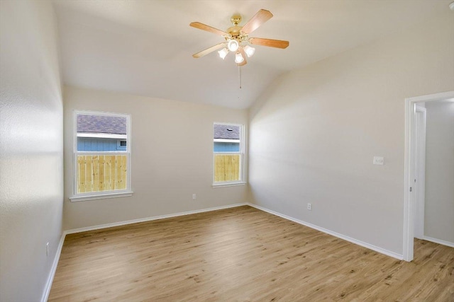
POLYGON ((77 133, 126 134, 126 117, 77 115, 77 133))

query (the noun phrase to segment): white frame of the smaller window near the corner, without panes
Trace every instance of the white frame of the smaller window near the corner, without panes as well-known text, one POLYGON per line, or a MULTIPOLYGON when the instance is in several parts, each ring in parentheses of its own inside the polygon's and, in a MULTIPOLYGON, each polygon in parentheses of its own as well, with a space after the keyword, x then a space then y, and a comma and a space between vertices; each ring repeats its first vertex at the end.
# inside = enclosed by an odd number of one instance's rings
POLYGON ((212 186, 213 187, 231 187, 231 186, 236 186, 236 185, 245 185, 245 179, 244 179, 244 157, 245 157, 245 125, 244 124, 235 124, 231 122, 214 122, 213 123, 213 129, 211 132, 211 152, 213 153, 213 168, 212 168, 212 173, 213 173, 213 178, 212 178, 212 186), (226 126, 236 126, 240 127, 240 151, 223 151, 223 152, 214 152, 214 125, 216 124, 221 124, 221 125, 226 125, 226 126), (215 175, 216 171, 214 170, 216 168, 215 162, 216 162, 216 155, 231 155, 231 154, 238 154, 240 156, 240 167, 239 167, 239 180, 230 180, 230 181, 221 181, 221 182, 216 182, 215 181, 215 175))

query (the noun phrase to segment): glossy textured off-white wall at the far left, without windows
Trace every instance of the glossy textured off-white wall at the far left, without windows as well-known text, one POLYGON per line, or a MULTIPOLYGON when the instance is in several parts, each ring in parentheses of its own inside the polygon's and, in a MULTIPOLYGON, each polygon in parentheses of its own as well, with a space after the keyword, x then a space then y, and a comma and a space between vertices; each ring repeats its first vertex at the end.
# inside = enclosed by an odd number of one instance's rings
POLYGON ((48 1, 0 1, 0 301, 5 302, 40 301, 62 233, 63 112, 54 20, 48 1))

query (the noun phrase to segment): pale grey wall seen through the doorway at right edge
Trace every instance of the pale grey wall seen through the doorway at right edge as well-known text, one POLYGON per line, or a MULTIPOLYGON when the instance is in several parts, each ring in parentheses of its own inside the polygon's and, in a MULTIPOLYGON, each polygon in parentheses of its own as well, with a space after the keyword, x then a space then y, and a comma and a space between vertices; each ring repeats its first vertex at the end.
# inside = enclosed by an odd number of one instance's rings
POLYGON ((424 236, 454 245, 454 102, 427 102, 424 236))

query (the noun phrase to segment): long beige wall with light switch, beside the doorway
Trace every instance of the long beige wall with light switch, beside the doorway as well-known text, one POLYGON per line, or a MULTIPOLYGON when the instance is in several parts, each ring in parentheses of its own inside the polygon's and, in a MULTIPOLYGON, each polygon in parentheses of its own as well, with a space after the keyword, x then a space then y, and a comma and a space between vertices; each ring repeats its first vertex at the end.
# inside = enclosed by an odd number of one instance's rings
POLYGON ((281 76, 250 108, 250 200, 402 256, 404 99, 453 88, 448 9, 281 76))

